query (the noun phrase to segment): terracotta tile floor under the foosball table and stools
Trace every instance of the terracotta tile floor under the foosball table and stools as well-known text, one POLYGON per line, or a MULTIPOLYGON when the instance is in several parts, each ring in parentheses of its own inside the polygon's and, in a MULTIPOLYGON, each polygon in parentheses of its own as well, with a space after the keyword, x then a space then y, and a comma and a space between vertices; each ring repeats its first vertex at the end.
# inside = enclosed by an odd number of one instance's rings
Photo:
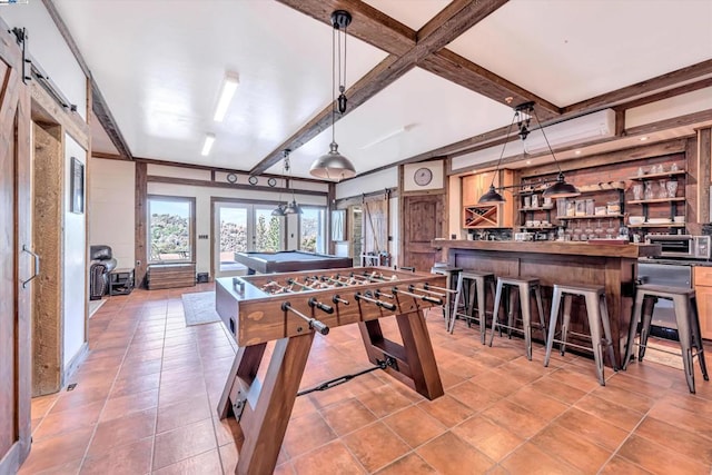
MULTIPOLYGON (((220 323, 186 327, 182 293, 135 290, 99 309, 76 388, 32 402, 20 474, 234 472, 239 429, 216 403, 235 345, 220 323)), ((299 397, 276 473, 710 474, 712 383, 699 370, 696 395, 649 362, 606 368, 601 387, 587 358, 544 368, 543 348, 527 362, 521 339, 490 348, 459 321, 448 335, 435 311, 428 328, 445 396, 376 372, 299 397)), ((335 328, 316 336, 301 387, 368 366, 357 327, 335 328)))

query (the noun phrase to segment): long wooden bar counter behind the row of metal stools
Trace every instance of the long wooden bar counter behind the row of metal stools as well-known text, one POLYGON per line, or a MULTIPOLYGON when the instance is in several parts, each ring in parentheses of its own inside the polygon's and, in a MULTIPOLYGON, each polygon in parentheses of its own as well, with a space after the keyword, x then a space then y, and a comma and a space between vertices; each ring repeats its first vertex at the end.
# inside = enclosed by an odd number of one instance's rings
MULTIPOLYGON (((625 352, 631 321, 637 259, 660 255, 659 245, 591 243, 520 243, 435 239, 451 266, 494 273, 495 276, 536 277, 544 288, 544 311, 551 309, 554 284, 605 287, 616 365, 625 352), (615 345, 615 342, 619 342, 615 345)), ((488 300, 492 300, 488 298, 488 300)), ((488 303, 491 308, 492 304, 488 303)), ((546 316, 548 320, 548 315, 546 316)), ((574 306, 571 330, 587 333, 583 306, 574 306)))

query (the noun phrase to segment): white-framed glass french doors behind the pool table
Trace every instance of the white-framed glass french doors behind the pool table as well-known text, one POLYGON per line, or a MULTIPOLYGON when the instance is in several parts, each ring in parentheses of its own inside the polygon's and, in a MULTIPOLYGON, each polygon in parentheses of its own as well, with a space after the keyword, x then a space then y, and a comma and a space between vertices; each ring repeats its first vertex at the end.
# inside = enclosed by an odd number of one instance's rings
POLYGON ((284 249, 285 218, 271 216, 276 205, 215 201, 212 256, 215 277, 247 274, 235 253, 284 249))

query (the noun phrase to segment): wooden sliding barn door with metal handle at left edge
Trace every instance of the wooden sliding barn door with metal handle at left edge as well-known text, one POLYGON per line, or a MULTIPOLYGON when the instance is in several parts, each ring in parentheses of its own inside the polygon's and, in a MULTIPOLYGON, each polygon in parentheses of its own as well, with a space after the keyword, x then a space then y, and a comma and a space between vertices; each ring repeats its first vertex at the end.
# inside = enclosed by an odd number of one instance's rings
POLYGON ((30 451, 30 97, 0 20, 0 474, 30 451))

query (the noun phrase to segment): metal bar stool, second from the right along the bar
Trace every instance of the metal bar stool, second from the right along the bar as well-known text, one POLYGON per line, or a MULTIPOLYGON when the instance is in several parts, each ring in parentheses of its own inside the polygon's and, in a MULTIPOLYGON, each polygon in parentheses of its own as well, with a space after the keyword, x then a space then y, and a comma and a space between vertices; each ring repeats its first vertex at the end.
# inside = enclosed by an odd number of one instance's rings
POLYGON ((605 378, 603 376, 603 346, 606 347, 611 365, 615 370, 615 356, 613 355, 613 339, 611 337, 611 321, 609 319, 609 307, 605 301, 605 288, 599 286, 564 286, 554 285, 554 293, 552 295, 552 314, 548 320, 548 338, 546 339, 546 356, 544 357, 544 366, 548 366, 548 360, 552 356, 552 347, 554 342, 561 344, 561 355, 564 356, 566 352, 566 345, 573 346, 580 349, 593 350, 593 359, 596 364, 596 373, 599 375, 599 383, 601 386, 605 386, 605 378), (571 323, 571 305, 574 296, 583 297, 586 303, 586 315, 589 317, 589 328, 591 335, 584 335, 568 330, 571 323), (561 299, 564 299, 564 319, 561 325, 561 339, 556 339, 556 320, 558 319, 558 310, 561 307, 561 299), (591 339, 592 347, 576 345, 567 343, 566 338, 571 335, 584 337, 591 339))

